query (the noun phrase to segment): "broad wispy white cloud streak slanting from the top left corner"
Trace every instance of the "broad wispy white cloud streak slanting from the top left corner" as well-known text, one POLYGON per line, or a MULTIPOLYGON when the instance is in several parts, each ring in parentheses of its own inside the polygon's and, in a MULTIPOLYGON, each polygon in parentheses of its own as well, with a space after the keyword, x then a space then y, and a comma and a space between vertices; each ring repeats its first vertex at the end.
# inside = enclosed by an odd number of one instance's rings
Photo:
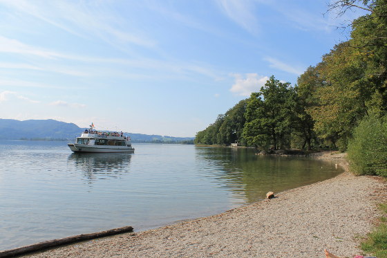
POLYGON ((134 28, 132 31, 119 29, 123 27, 120 18, 105 11, 110 9, 108 2, 75 3, 53 0, 45 4, 36 4, 31 1, 12 0, 3 4, 78 37, 97 37, 112 45, 119 42, 147 48, 155 46, 153 40, 140 36, 140 31, 134 31, 134 28))

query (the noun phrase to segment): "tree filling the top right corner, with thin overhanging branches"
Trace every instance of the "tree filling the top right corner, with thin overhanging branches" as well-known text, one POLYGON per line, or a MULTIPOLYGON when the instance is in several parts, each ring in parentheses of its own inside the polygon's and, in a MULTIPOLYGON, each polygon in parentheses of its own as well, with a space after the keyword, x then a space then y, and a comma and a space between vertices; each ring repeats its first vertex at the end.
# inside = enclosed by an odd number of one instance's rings
POLYGON ((387 113, 387 0, 337 0, 330 4, 330 10, 343 15, 348 9, 360 8, 367 15, 352 21, 349 46, 354 48, 352 58, 363 65, 366 84, 372 91, 370 108, 387 113))

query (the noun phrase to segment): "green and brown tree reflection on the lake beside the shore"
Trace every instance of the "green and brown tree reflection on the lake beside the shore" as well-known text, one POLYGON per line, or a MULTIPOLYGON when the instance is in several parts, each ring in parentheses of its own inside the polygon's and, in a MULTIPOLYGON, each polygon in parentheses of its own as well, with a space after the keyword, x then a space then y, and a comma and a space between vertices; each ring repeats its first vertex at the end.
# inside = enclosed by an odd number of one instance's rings
POLYGON ((254 149, 196 148, 196 158, 210 167, 219 187, 232 192, 236 203, 252 203, 266 192, 283 192, 341 173, 334 162, 311 158, 256 156, 254 149))

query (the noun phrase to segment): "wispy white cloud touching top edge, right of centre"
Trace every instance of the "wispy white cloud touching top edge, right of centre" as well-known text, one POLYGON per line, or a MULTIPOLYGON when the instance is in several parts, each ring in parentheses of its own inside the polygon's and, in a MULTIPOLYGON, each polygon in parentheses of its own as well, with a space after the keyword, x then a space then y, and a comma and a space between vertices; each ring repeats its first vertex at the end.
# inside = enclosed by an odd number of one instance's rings
POLYGON ((258 20, 254 14, 255 4, 251 0, 216 0, 220 10, 249 33, 258 33, 258 20))

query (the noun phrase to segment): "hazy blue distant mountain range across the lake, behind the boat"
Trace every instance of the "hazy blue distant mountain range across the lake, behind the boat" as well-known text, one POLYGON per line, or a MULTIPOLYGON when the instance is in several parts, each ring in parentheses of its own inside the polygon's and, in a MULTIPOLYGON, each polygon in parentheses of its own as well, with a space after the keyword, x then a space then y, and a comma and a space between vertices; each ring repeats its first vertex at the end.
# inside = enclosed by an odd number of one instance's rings
MULTIPOLYGON (((13 120, 0 118, 0 140, 73 140, 84 127, 57 120, 13 120)), ((126 133, 132 142, 193 143, 193 137, 126 133)))

